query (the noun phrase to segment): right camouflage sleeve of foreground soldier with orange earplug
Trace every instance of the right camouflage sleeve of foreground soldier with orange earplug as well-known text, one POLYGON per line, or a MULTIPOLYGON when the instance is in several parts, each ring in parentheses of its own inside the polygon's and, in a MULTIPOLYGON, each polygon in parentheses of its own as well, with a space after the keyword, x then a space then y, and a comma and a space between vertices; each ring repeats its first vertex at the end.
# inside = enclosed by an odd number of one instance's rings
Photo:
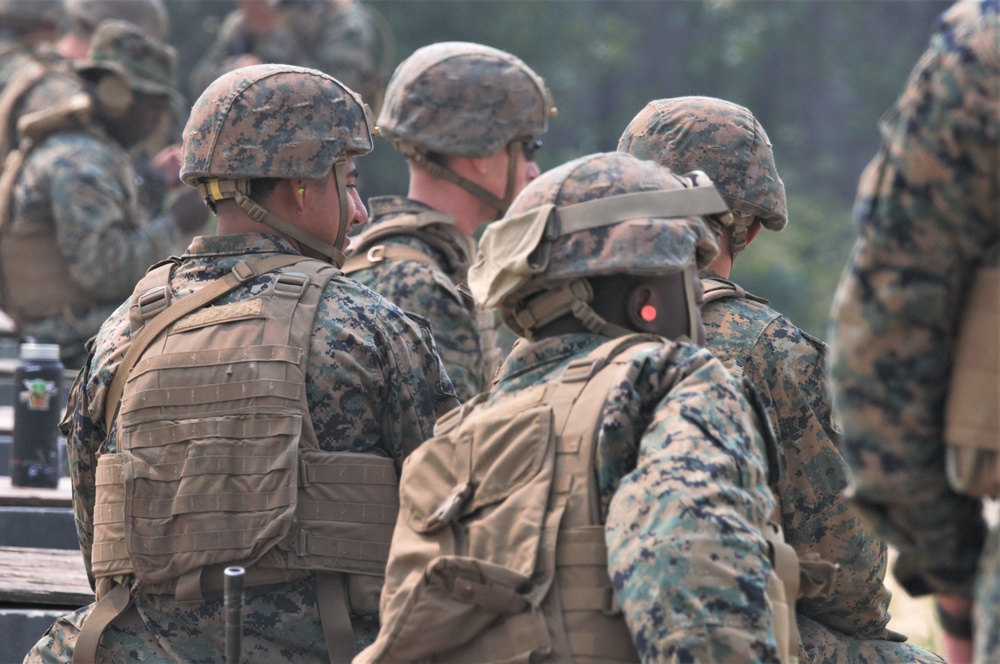
POLYGON ((774 502, 748 410, 709 358, 657 403, 611 501, 608 568, 643 661, 776 661, 774 502))

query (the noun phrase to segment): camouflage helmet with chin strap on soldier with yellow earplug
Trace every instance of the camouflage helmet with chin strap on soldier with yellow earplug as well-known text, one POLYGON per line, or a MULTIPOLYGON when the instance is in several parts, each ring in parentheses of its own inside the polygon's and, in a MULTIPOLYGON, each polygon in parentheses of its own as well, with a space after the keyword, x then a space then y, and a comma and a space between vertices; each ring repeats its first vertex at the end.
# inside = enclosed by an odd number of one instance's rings
POLYGON ((223 74, 194 103, 184 128, 181 180, 210 206, 232 198, 254 219, 329 257, 339 267, 349 220, 348 157, 372 149, 368 109, 335 78, 291 65, 223 74), (340 199, 334 245, 308 235, 249 198, 258 178, 315 180, 333 168, 340 199))

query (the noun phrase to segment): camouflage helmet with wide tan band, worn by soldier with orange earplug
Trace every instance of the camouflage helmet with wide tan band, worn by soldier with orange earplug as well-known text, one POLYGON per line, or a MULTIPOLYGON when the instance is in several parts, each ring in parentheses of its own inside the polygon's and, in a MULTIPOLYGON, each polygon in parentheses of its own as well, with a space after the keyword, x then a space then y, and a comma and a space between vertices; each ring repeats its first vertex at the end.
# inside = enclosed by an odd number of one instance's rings
MULTIPOLYGON (((469 286, 478 306, 499 307, 528 339, 566 314, 597 334, 627 334, 590 307, 587 277, 700 269, 718 253, 711 225, 720 223, 702 217, 728 211, 704 173, 677 176, 622 152, 582 157, 532 181, 486 228, 469 286)), ((693 315, 698 305, 685 283, 693 315)), ((694 338, 697 321, 689 323, 694 338)))

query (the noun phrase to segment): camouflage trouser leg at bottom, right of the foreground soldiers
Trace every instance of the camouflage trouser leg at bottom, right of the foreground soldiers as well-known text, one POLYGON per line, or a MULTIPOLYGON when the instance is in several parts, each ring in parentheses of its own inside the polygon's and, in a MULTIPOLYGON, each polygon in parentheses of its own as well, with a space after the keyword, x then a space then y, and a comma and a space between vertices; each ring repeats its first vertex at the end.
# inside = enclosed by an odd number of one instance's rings
POLYGON ((797 616, 801 645, 799 660, 805 664, 864 662, 891 664, 919 662, 944 664, 944 659, 918 645, 885 639, 856 639, 803 615, 797 616))

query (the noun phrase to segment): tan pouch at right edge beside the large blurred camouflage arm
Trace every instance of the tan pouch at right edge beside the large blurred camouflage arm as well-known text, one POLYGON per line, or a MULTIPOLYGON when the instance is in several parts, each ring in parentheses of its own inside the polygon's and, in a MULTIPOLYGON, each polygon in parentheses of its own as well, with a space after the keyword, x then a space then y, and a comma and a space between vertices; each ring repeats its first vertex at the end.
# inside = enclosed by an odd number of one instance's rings
POLYGON ((959 493, 1000 496, 1000 266, 977 270, 955 343, 945 406, 945 466, 959 493))

